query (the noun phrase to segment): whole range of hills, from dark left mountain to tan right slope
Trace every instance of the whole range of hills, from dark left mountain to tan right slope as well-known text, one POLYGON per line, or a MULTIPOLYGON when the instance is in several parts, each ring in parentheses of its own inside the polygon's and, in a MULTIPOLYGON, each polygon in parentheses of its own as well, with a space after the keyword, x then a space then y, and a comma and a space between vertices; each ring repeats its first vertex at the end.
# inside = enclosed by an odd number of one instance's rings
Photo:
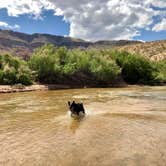
POLYGON ((152 60, 166 59, 166 40, 139 42, 130 40, 88 42, 81 39, 49 34, 25 34, 10 30, 0 30, 0 54, 10 52, 28 59, 34 49, 51 43, 67 48, 114 48, 146 56, 152 60))

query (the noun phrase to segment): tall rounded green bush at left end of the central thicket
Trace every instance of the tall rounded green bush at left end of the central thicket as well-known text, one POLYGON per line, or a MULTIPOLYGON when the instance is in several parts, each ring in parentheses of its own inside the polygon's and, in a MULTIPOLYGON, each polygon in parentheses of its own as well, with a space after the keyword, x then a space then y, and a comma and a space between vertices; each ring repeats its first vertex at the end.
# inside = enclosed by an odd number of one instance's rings
POLYGON ((30 58, 29 67, 37 73, 38 81, 53 83, 58 80, 61 68, 55 53, 54 47, 48 45, 38 49, 30 58))

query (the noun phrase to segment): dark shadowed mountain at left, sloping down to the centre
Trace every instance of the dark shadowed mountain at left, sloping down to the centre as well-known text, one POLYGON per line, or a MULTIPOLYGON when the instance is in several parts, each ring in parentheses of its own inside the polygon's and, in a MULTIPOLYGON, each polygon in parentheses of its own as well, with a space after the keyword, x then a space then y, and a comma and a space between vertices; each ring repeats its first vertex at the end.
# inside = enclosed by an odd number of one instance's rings
POLYGON ((48 34, 25 34, 9 30, 0 30, 0 51, 28 58, 33 50, 44 44, 55 46, 88 47, 90 43, 70 37, 54 36, 48 34))

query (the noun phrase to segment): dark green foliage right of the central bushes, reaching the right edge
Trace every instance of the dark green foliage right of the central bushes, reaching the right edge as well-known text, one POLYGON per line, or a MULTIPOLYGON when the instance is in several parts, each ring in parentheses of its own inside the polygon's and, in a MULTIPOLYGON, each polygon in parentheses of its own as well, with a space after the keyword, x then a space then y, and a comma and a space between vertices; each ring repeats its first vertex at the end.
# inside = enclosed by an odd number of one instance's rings
POLYGON ((127 52, 113 52, 112 57, 121 67, 123 79, 129 84, 166 83, 166 60, 154 62, 127 52))

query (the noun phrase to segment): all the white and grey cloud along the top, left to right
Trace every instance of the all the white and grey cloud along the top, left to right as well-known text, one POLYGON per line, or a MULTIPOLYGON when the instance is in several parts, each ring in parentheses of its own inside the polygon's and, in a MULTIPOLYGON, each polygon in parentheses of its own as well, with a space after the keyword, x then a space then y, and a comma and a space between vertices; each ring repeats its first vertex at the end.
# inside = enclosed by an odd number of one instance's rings
POLYGON ((10 16, 40 17, 43 9, 55 11, 70 22, 70 36, 87 40, 132 39, 150 29, 154 16, 164 19, 166 0, 8 0, 0 1, 10 16), (157 10, 154 9, 157 8, 157 10))

